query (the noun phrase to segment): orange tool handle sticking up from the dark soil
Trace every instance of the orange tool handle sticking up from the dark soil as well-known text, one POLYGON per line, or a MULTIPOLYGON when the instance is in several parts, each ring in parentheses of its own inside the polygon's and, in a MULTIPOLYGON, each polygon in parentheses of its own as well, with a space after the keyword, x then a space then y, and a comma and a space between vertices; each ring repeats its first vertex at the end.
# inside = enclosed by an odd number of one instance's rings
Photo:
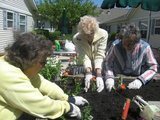
POLYGON ((131 100, 127 98, 126 102, 123 106, 123 112, 122 112, 122 116, 121 116, 122 120, 127 119, 130 103, 131 103, 131 100))

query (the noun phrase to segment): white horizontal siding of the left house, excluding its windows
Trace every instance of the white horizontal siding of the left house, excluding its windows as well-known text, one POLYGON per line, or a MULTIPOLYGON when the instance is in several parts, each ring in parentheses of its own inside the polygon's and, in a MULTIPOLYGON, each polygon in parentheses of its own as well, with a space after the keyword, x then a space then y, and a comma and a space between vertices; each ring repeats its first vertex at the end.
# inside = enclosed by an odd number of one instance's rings
POLYGON ((32 31, 34 28, 34 20, 24 0, 0 0, 0 53, 4 52, 4 48, 7 45, 13 43, 13 30, 3 29, 3 10, 9 10, 27 16, 26 32, 32 31))

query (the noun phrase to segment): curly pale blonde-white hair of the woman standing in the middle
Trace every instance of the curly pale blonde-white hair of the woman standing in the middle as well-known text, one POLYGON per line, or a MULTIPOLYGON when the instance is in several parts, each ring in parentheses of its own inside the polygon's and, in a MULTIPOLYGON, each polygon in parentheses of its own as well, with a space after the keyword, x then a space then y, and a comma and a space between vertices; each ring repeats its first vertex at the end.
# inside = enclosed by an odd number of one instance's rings
POLYGON ((95 33, 99 28, 99 22, 93 16, 85 15, 80 18, 78 24, 78 32, 82 34, 91 34, 95 33))

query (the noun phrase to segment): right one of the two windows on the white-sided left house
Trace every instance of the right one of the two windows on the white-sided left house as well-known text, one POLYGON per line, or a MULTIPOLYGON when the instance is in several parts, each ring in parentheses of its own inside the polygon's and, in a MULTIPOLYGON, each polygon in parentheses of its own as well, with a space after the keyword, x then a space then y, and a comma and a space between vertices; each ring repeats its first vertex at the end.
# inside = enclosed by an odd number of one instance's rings
POLYGON ((21 32, 25 32, 26 31, 26 16, 24 15, 20 15, 19 16, 19 28, 21 32))

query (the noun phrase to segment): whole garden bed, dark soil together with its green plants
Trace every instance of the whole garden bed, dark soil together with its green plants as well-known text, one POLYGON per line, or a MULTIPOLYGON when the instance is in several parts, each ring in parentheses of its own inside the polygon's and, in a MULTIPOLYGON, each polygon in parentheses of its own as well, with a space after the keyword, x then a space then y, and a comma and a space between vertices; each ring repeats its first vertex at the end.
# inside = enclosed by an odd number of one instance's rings
MULTIPOLYGON (((58 72, 60 71, 60 68, 57 67, 57 65, 60 65, 56 64, 56 68, 58 68, 56 71, 58 72)), ((55 81, 52 77, 55 76, 55 74, 53 74, 52 69, 50 69, 53 67, 50 66, 52 66, 52 64, 46 65, 44 71, 42 72, 44 73, 44 77, 46 79, 56 82, 67 94, 81 95, 89 101, 90 104, 88 106, 81 108, 83 116, 82 120, 120 120, 126 98, 132 99, 136 95, 142 96, 146 101, 160 101, 160 80, 151 81, 148 85, 139 90, 125 90, 120 94, 114 90, 110 93, 106 90, 103 90, 101 93, 97 93, 95 83, 92 83, 91 89, 85 93, 83 90, 84 81, 81 77, 76 78, 75 75, 70 78, 69 76, 66 76, 59 81, 55 81)), ((157 79, 159 79, 159 76, 157 76, 157 79)), ((131 81, 131 79, 126 79, 124 83, 128 84, 129 81, 131 81)), ((127 120, 138 120, 138 112, 138 106, 134 102, 131 102, 127 120)), ((57 120, 70 119, 63 116, 57 120)))

